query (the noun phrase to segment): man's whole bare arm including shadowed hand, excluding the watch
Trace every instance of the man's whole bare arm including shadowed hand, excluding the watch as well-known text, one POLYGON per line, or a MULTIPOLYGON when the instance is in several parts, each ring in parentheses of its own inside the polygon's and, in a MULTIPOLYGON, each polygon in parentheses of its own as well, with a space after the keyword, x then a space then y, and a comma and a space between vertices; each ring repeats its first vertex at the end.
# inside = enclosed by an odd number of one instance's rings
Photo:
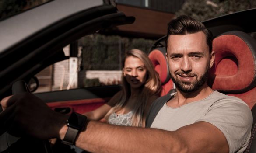
MULTIPOLYGON (((39 139, 63 139, 67 115, 50 110, 32 94, 15 95, 1 101, 0 121, 4 129, 17 135, 39 139)), ((76 146, 91 152, 228 152, 228 143, 214 125, 197 122, 177 131, 108 125, 89 121, 76 146)))

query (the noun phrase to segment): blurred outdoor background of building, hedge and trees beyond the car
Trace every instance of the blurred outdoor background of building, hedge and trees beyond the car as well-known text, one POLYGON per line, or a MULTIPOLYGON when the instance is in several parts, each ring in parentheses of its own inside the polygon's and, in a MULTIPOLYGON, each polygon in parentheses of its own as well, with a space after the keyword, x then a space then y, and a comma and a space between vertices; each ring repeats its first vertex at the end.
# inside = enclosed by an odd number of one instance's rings
MULTIPOLYGON (((0 0, 0 20, 50 1, 0 0)), ((166 34, 173 18, 188 15, 206 21, 255 8, 256 0, 116 0, 116 7, 136 21, 102 29, 64 47, 70 59, 38 73, 35 92, 119 84, 125 51, 140 49, 148 54, 154 42, 166 34)))

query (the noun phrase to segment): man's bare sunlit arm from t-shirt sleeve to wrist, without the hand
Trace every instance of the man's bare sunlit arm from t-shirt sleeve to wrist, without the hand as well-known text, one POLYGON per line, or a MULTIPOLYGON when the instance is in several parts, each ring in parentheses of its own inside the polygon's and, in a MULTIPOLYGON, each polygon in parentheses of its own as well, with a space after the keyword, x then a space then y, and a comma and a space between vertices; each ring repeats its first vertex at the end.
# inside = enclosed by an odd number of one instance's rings
MULTIPOLYGON (((63 139, 67 127, 62 128, 63 139)), ((228 153, 223 133, 207 122, 197 122, 177 131, 88 122, 76 146, 97 153, 228 153)))

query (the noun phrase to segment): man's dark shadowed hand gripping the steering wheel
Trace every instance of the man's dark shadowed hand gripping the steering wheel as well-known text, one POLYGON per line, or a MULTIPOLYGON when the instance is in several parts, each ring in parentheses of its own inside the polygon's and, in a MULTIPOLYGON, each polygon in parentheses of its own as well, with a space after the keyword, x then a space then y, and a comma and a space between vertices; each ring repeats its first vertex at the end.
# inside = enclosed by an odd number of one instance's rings
POLYGON ((2 130, 14 136, 33 136, 39 139, 59 138, 66 115, 52 111, 33 94, 24 93, 5 97, 1 101, 2 130))

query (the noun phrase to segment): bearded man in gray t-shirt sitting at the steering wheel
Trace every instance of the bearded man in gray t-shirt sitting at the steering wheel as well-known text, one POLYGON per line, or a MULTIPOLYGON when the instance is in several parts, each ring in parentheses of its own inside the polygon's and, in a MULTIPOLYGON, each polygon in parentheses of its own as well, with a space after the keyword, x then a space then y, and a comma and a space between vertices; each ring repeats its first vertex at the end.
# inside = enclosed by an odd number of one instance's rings
POLYGON ((76 137, 66 125, 68 116, 51 111, 32 94, 4 98, 0 121, 15 135, 71 137, 76 146, 91 152, 242 153, 249 142, 252 114, 242 100, 207 85, 214 64, 210 31, 193 18, 178 17, 168 24, 166 46, 177 92, 154 102, 147 120, 151 128, 88 121, 76 137))

